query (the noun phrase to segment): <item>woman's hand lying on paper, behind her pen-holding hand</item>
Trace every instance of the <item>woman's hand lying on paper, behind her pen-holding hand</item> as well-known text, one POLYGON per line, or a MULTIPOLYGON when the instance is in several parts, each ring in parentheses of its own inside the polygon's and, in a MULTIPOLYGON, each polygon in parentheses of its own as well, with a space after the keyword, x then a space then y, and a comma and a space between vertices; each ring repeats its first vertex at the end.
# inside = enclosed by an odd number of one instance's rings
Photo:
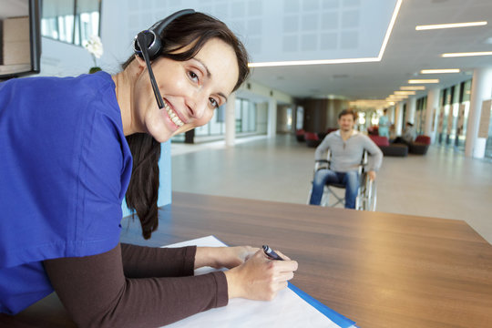
POLYGON ((212 268, 235 268, 247 261, 257 248, 251 246, 239 247, 197 247, 195 269, 210 266, 212 268))

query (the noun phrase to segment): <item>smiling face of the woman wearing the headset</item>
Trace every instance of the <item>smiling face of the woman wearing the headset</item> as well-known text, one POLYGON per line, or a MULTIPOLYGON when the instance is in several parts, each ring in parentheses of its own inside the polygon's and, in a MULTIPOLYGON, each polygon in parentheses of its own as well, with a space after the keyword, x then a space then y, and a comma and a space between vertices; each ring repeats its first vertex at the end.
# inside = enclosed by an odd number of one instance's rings
POLYGON ((225 104, 239 77, 236 54, 220 39, 210 39, 187 61, 160 57, 152 63, 165 107, 159 109, 145 62, 135 84, 133 120, 138 130, 159 142, 200 127, 225 104))

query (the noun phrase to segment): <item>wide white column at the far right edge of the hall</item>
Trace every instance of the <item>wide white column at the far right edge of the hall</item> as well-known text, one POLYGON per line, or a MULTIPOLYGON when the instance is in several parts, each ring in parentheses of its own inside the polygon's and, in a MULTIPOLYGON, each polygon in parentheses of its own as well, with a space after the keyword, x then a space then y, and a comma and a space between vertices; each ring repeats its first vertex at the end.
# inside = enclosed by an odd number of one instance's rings
POLYGON ((473 71, 470 110, 466 125, 465 156, 483 159, 487 138, 478 138, 478 126, 482 114, 482 102, 492 97, 492 67, 473 71))

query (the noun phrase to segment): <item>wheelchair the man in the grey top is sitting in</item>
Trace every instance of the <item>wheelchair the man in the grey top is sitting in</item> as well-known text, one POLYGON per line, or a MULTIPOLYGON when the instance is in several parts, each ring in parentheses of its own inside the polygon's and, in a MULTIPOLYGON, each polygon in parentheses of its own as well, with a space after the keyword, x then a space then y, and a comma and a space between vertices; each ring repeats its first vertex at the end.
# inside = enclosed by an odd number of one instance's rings
MULTIPOLYGON (((331 164, 331 151, 328 150, 326 159, 317 160, 314 164, 314 174, 319 169, 330 169, 331 164)), ((368 153, 364 150, 363 158, 358 166, 359 173, 359 190, 357 191, 357 197, 355 199, 355 210, 375 210, 376 200, 377 200, 377 186, 376 182, 369 179, 367 174, 367 160, 368 153)), ((312 181, 313 182, 313 181, 312 181)), ((311 200, 311 193, 313 188, 310 190, 308 195, 307 203, 311 200)), ((338 205, 345 205, 344 197, 345 186, 343 184, 333 184, 327 183, 323 188, 323 197, 320 205, 325 207, 336 207, 338 205), (343 194, 340 193, 343 190, 343 194), (333 198, 333 200, 331 200, 333 198)))

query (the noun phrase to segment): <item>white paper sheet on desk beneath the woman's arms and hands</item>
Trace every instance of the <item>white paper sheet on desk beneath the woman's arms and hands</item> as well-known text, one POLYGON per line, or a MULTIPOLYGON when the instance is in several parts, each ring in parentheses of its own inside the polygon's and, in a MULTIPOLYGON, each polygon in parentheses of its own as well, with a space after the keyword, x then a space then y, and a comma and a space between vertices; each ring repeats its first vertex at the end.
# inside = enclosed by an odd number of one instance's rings
MULTIPOLYGON (((220 247, 227 246, 213 236, 196 240, 179 242, 166 247, 182 247, 189 245, 220 247)), ((195 274, 212 272, 215 269, 200 268, 195 274)), ((204 313, 197 313, 178 323, 171 323, 167 328, 220 328, 220 327, 327 327, 340 326, 323 313, 316 310, 311 304, 302 300, 289 288, 282 290, 271 302, 251 301, 246 299, 232 299, 227 306, 211 309, 204 313)))

